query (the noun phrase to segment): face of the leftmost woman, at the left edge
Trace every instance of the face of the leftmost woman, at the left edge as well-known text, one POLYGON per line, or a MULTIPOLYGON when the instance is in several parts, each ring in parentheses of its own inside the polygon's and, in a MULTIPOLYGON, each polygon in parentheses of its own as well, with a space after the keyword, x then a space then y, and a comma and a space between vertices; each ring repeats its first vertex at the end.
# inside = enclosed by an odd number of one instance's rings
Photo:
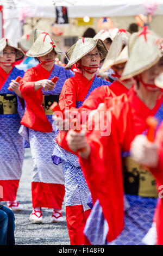
POLYGON ((5 62, 5 66, 11 66, 15 62, 16 50, 11 46, 6 46, 3 50, 3 56, 0 57, 0 62, 5 62))

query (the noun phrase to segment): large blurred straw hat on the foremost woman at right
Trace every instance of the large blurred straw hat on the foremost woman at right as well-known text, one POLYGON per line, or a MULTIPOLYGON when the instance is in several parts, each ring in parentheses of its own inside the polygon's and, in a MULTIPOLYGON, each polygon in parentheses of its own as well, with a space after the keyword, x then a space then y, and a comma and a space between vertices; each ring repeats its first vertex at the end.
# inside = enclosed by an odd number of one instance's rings
POLYGON ((133 33, 129 39, 129 59, 123 70, 121 79, 127 79, 151 68, 160 59, 162 39, 153 31, 144 27, 142 31, 133 33))

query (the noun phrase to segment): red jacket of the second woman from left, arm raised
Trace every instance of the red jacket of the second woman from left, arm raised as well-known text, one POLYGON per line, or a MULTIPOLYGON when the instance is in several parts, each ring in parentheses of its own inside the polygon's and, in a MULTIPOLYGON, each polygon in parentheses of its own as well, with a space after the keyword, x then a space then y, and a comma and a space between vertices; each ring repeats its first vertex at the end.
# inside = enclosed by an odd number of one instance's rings
POLYGON ((52 132, 53 130, 52 125, 49 123, 49 120, 46 117, 45 111, 42 107, 42 88, 36 91, 34 90, 35 82, 48 79, 51 71, 43 69, 42 66, 38 64, 34 68, 26 71, 20 83, 20 91, 27 103, 27 109, 23 115, 21 124, 36 131, 52 132))

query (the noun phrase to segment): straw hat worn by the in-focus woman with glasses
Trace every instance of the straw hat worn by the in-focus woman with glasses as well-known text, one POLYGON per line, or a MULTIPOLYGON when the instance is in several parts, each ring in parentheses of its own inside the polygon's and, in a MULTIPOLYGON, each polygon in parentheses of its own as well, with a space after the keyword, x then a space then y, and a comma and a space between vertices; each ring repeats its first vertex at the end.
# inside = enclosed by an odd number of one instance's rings
POLYGON ((95 47, 98 47, 98 51, 101 56, 101 61, 104 60, 108 50, 104 42, 101 39, 93 39, 93 38, 80 38, 76 44, 71 46, 66 52, 66 58, 68 59, 68 63, 65 66, 65 69, 71 69, 72 65, 78 62, 79 59, 84 57, 87 53, 91 52, 95 47))

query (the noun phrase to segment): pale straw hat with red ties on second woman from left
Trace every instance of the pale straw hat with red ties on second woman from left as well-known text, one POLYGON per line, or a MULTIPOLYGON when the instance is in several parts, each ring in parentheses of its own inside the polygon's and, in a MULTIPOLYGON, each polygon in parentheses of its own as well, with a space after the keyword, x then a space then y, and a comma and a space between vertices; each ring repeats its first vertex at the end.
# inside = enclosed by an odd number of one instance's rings
POLYGON ((56 53, 62 54, 59 47, 55 44, 51 36, 39 29, 35 29, 34 32, 34 44, 30 50, 26 53, 29 57, 41 57, 45 56, 52 50, 55 50, 56 53))

